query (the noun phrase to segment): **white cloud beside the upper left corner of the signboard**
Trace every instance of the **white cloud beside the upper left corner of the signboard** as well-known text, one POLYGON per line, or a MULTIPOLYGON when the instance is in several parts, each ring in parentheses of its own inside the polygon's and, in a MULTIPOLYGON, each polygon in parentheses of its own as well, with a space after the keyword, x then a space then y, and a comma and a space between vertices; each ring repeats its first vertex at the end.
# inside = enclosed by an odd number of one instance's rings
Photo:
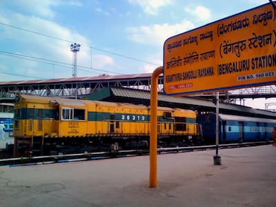
POLYGON ((160 46, 168 37, 186 32, 194 27, 192 22, 184 20, 181 23, 175 23, 173 25, 164 23, 153 26, 131 27, 126 28, 126 31, 130 34, 128 39, 132 41, 160 46))

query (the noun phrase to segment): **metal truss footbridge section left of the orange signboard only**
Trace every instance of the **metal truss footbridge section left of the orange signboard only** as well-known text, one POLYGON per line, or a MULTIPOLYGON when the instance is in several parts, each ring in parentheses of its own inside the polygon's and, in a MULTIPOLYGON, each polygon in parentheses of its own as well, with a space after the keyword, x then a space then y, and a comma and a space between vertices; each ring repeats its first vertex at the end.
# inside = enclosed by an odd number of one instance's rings
MULTIPOLYGON (((163 77, 159 77, 158 83, 158 90, 161 92, 163 91, 163 77)), ((17 94, 75 98, 107 87, 127 87, 139 90, 150 90, 150 76, 143 78, 137 77, 135 79, 0 84, 0 98, 14 98, 17 94)))

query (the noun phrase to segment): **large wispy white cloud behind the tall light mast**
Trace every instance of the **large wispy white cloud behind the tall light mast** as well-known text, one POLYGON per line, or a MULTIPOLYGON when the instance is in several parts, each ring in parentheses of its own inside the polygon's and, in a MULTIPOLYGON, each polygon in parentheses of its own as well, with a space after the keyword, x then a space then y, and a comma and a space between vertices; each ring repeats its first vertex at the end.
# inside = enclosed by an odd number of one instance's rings
MULTIPOLYGON (((52 75, 54 73, 55 77, 71 77, 71 43, 68 41, 62 41, 61 39, 69 41, 72 40, 72 43, 80 43, 81 48, 80 51, 77 53, 77 64, 79 66, 90 67, 91 51, 90 47, 88 47, 90 45, 90 41, 86 37, 83 37, 81 34, 74 32, 64 26, 61 26, 54 21, 36 16, 19 14, 16 12, 2 11, 0 20, 2 19, 8 20, 8 22, 5 22, 12 26, 23 26, 24 29, 48 34, 50 36, 57 37, 58 39, 52 39, 43 35, 34 34, 32 32, 26 32, 11 28, 9 26, 3 26, 1 27, 0 33, 1 50, 21 55, 40 57, 43 59, 68 63, 66 67, 60 67, 54 65, 55 63, 52 63, 51 65, 28 60, 22 61, 22 59, 14 58, 14 60, 17 61, 17 63, 19 64, 17 67, 24 68, 24 70, 26 71, 20 74, 39 77, 39 75, 34 75, 34 71, 38 71, 40 73, 40 76, 45 78, 52 78, 52 75), (26 22, 28 22, 27 25, 26 22), (17 48, 17 51, 12 50, 12 48, 14 47, 17 48), (55 72, 52 72, 52 70, 55 70, 55 72)), ((99 69, 101 69, 105 66, 112 65, 113 59, 111 57, 108 57, 108 55, 93 55, 92 63, 93 68, 98 67, 99 69)), ((16 67, 12 65, 12 62, 6 63, 6 65, 7 64, 11 70, 14 70, 14 72, 17 70, 16 67)), ((89 70, 81 67, 79 67, 78 70, 78 77, 87 75, 92 76, 95 75, 95 73, 99 74, 99 71, 97 70, 89 70), (86 72, 84 75, 83 71, 81 70, 88 70, 90 71, 90 73, 86 72)))

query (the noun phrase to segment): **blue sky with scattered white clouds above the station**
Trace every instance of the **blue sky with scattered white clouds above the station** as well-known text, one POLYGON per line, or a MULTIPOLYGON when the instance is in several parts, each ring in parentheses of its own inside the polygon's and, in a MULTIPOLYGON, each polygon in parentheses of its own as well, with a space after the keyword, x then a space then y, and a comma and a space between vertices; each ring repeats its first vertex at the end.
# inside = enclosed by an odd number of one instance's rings
MULTIPOLYGON (((268 0, 1 0, 0 81, 152 72, 168 37, 268 0)), ((264 108, 276 99, 246 100, 264 108)))

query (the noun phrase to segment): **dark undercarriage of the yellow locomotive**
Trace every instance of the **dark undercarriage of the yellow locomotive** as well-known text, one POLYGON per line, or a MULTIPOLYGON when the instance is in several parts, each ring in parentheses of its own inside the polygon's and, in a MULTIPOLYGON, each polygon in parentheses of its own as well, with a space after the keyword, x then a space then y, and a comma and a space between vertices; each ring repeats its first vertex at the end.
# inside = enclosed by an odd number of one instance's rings
MULTIPOLYGON (((158 148, 193 146, 197 137, 192 136, 159 136, 158 148)), ((117 150, 148 150, 149 136, 108 136, 108 137, 63 137, 14 138, 14 157, 59 155, 83 152, 99 152, 117 150)))

